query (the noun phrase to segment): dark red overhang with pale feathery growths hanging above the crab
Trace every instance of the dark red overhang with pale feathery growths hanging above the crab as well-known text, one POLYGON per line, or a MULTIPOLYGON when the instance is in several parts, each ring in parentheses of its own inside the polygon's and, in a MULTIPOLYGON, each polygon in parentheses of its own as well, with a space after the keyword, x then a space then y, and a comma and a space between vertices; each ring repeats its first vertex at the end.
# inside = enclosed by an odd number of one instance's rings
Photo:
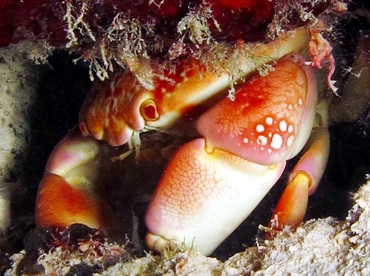
POLYGON ((225 45, 267 41, 315 22, 329 2, 0 0, 0 47, 36 44, 28 47, 36 61, 54 49, 68 50, 89 64, 90 79, 128 68, 146 84, 145 60, 202 61, 225 45))

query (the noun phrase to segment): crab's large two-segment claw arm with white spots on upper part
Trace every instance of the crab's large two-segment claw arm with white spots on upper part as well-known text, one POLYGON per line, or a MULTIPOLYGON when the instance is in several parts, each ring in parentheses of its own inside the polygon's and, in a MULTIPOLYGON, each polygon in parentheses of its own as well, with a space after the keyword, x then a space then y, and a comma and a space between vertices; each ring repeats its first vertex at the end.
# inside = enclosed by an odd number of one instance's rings
POLYGON ((280 61, 203 114, 204 139, 182 146, 157 186, 147 243, 170 241, 210 254, 256 207, 310 135, 317 101, 312 68, 280 61))

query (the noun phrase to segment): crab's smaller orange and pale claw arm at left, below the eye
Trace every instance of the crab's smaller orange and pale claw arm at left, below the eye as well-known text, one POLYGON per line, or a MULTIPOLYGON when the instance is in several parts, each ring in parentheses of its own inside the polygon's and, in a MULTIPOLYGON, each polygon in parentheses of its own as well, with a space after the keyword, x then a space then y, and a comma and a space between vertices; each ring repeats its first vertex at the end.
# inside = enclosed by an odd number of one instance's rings
POLYGON ((72 130, 54 149, 37 193, 38 227, 83 223, 103 232, 112 223, 108 206, 97 193, 100 145, 72 130))

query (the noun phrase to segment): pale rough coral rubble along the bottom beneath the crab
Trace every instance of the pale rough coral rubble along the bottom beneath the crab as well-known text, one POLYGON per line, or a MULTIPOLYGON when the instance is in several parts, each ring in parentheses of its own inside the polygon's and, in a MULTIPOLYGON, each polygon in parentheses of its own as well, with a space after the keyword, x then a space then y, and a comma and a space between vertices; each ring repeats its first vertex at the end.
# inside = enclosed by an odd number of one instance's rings
MULTIPOLYGON (((201 255, 195 248, 133 258, 132 248, 102 241, 99 236, 94 240, 90 235, 74 247, 59 244, 50 250, 40 249, 37 265, 42 266, 42 272, 37 275, 79 271, 94 275, 367 275, 370 181, 355 193, 354 201, 345 221, 331 217, 307 221, 296 231, 285 229, 273 240, 247 248, 224 263, 201 255)), ((15 275, 25 256, 25 251, 14 254, 13 266, 5 275, 15 275)))

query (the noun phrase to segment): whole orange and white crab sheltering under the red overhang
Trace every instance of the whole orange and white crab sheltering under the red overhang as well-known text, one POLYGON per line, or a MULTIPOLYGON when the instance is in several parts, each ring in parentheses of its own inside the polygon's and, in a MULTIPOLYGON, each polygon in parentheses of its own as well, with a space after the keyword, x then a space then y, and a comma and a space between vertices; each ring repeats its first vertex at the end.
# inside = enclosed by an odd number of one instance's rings
POLYGON ((37 195, 37 226, 83 223, 107 235, 117 231, 100 192, 119 174, 117 160, 125 162, 133 151, 140 158, 141 133, 170 129, 195 106, 233 90, 230 84, 236 92, 199 117, 200 137, 169 161, 146 211, 147 245, 163 250, 184 243, 211 254, 278 181, 286 161, 301 154, 270 226, 298 225, 329 151, 327 105, 318 104, 312 62, 301 55, 309 55, 309 41, 307 28, 297 28, 266 44, 239 43, 221 72, 195 59, 170 69, 146 61, 153 87, 131 72, 95 86, 79 128, 49 158, 37 195), (231 66, 239 69, 232 77, 231 66), (262 66, 268 73, 255 74, 262 66), (122 145, 128 150, 111 160, 113 147, 122 145))

